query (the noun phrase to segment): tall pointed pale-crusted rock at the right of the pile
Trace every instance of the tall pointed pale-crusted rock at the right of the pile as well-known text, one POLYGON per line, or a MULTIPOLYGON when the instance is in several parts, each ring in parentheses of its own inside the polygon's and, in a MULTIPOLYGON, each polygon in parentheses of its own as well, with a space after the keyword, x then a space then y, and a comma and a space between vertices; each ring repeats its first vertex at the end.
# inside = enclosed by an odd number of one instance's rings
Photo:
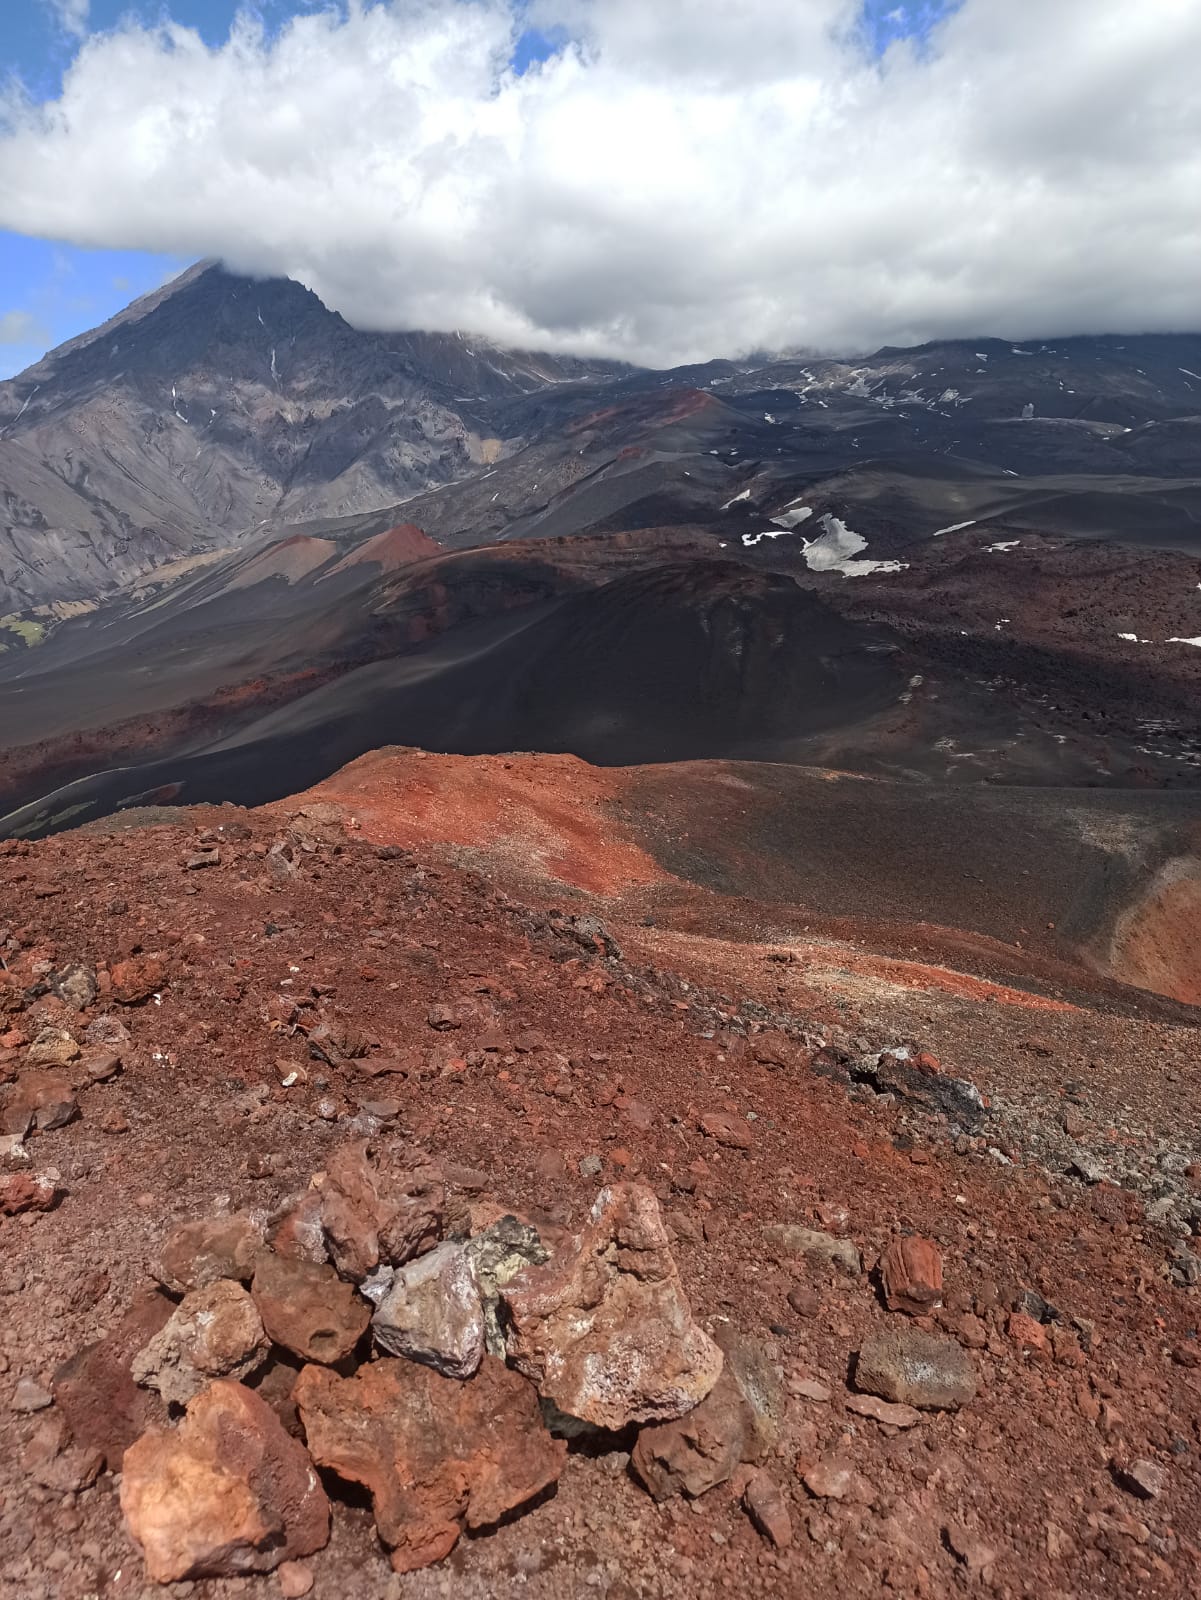
POLYGON ((721 1350, 692 1322, 652 1190, 603 1189, 582 1234, 504 1290, 509 1358, 560 1411, 598 1427, 699 1405, 721 1350))

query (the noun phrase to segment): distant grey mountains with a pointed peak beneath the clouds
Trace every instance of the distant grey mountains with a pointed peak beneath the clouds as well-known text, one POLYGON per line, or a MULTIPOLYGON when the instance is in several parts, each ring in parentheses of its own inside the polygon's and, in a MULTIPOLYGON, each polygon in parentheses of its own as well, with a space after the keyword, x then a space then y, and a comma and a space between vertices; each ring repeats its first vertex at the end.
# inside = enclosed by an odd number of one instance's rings
MULTIPOLYGON (((93 602, 294 525, 417 522, 464 546, 624 522, 630 498, 649 512, 665 494, 667 520, 681 501, 705 520, 752 456, 868 490, 881 464, 929 478, 940 458, 948 478, 993 480, 988 506, 1014 475, 1188 478, 1199 373, 1196 334, 638 373, 360 333, 297 283, 201 264, 0 384, 0 614, 93 602), (712 435, 704 461, 683 466, 667 398, 712 435), (656 448, 630 472, 619 458, 643 450, 643 421, 656 448)), ((1169 525, 1156 499, 1147 528, 1171 539, 1169 525)))

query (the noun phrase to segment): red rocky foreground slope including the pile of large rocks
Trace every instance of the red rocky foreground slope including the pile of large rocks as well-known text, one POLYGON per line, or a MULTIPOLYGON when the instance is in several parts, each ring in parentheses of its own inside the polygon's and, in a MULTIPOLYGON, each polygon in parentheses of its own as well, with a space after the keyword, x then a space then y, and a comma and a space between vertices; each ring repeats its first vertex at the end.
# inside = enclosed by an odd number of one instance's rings
POLYGON ((1195 1592, 1191 1014, 477 854, 0 846, 0 1594, 1195 1592))

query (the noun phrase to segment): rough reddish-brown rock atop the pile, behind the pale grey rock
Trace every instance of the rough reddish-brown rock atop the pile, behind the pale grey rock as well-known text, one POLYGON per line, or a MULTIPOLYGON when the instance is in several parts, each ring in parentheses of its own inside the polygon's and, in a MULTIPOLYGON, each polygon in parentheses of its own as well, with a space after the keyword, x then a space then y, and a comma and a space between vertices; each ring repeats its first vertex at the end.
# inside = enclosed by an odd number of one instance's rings
POLYGON ((339 1146, 320 1187, 326 1245, 344 1277, 358 1282, 381 1262, 400 1266, 441 1237, 441 1168, 398 1141, 339 1146))

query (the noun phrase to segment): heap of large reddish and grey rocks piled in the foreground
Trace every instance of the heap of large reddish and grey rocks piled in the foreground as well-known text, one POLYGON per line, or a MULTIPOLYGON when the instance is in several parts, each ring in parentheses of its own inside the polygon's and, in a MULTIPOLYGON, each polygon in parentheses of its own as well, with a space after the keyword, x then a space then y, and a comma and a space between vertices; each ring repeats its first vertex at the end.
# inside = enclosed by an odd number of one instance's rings
POLYGON ((181 1299, 130 1374, 186 1410, 128 1445, 122 1475, 152 1578, 321 1549, 315 1466, 368 1490, 393 1568, 411 1571, 552 1488, 581 1432, 648 1424, 635 1467, 654 1494, 676 1477, 700 1493, 761 1453, 771 1406, 748 1397, 772 1378, 692 1320, 649 1189, 603 1189, 574 1237, 494 1213, 453 1203, 421 1150, 357 1139, 281 1213, 170 1235, 158 1277, 181 1299), (269 1403, 280 1374, 291 1434, 269 1403), (705 1440, 715 1411, 713 1459, 681 1470, 689 1435, 668 1430, 697 1416, 705 1440))

